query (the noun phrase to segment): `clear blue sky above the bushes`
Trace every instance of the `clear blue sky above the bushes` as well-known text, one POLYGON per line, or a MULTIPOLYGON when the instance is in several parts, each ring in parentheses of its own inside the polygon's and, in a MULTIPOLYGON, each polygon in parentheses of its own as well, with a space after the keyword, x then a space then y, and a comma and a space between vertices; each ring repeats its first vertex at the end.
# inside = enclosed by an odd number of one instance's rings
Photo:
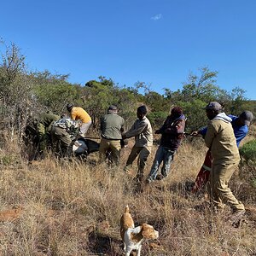
POLYGON ((256 100, 256 1, 12 0, 1 3, 0 37, 30 70, 99 76, 119 85, 182 89, 200 67, 225 90, 256 100))

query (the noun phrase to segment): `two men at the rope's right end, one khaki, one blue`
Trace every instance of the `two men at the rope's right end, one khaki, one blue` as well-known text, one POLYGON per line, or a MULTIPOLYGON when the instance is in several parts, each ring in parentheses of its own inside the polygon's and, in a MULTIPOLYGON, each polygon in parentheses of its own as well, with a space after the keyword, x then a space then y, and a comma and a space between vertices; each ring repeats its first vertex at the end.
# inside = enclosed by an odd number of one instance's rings
POLYGON ((209 148, 192 192, 198 191, 209 181, 207 189, 213 206, 220 211, 225 204, 230 205, 233 211, 231 220, 236 223, 245 213, 245 207, 233 195, 229 182, 239 165, 238 146, 247 135, 253 113, 244 111, 238 117, 226 115, 218 102, 210 102, 206 113, 210 119, 207 127, 192 132, 193 136, 203 136, 209 148))

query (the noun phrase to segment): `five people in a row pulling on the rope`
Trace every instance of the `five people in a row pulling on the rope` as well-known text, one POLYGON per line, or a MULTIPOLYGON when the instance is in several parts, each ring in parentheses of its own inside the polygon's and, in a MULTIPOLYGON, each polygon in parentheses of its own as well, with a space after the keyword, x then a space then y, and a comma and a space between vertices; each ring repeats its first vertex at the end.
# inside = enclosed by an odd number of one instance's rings
MULTIPOLYGON (((146 117, 147 108, 145 106, 137 108, 137 120, 129 131, 124 131, 124 119, 119 117, 117 111, 116 107, 111 106, 102 119, 100 154, 106 154, 108 148, 114 148, 115 161, 118 164, 120 140, 135 137, 135 144, 124 170, 129 172, 133 161, 137 158, 137 179, 142 183, 143 170, 153 145, 153 131, 146 117)), ((207 127, 191 133, 191 136, 204 137, 208 148, 205 162, 195 178, 191 192, 196 193, 208 184, 207 189, 212 204, 218 210, 224 208, 224 204, 229 204, 234 213, 232 218, 236 220, 245 213, 245 207, 233 195, 229 182, 240 162, 238 146, 247 135, 253 113, 243 111, 238 117, 226 115, 223 106, 218 102, 210 102, 205 111, 210 120, 207 127)), ((184 137, 185 123, 183 109, 174 107, 164 124, 154 132, 161 135, 160 145, 154 156, 147 183, 167 177, 173 157, 184 137), (161 163, 162 167, 158 174, 161 163)))

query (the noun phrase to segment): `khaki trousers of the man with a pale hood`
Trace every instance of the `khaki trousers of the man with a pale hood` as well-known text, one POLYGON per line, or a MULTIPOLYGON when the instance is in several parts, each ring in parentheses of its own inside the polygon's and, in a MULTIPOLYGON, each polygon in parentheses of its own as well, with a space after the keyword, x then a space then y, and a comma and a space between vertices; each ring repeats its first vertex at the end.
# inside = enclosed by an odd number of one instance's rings
POLYGON ((244 210, 241 201, 233 195, 229 182, 239 163, 220 165, 212 163, 210 195, 213 204, 218 208, 224 208, 224 204, 230 205, 234 212, 244 210))

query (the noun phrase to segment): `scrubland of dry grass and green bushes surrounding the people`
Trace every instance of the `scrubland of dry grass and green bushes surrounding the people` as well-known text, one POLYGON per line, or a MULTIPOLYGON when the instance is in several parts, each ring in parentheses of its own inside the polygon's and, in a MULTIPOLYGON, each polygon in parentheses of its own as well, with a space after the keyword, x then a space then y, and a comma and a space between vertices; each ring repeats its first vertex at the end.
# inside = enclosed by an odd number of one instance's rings
MULTIPOLYGON (((43 160, 28 161, 29 143, 22 140, 31 116, 47 110, 63 113, 67 102, 90 113, 90 137, 99 137, 99 118, 111 104, 119 107, 126 128, 136 119, 137 107, 145 104, 154 129, 179 105, 188 117, 187 132, 195 131, 207 124, 202 108, 210 101, 223 102, 226 113, 255 114, 255 101, 248 101, 245 91, 220 89, 218 73, 208 67, 189 74, 182 90, 166 84, 164 95, 150 90, 150 84, 125 86, 102 76, 70 84, 68 75, 28 71, 26 57, 15 44, 1 45, 1 255, 123 255, 119 219, 126 205, 136 225, 152 224, 160 232, 157 241, 143 243, 143 255, 256 255, 255 125, 241 144, 241 165, 230 183, 247 209, 240 227, 228 221, 230 208, 213 212, 206 193, 189 192, 207 151, 200 137, 186 137, 170 175, 145 184, 140 193, 134 182, 137 166, 123 172, 132 139, 122 149, 119 167, 97 165, 97 152, 83 161, 57 161, 50 152, 43 160)), ((145 177, 157 148, 158 137, 154 139, 145 177)))

